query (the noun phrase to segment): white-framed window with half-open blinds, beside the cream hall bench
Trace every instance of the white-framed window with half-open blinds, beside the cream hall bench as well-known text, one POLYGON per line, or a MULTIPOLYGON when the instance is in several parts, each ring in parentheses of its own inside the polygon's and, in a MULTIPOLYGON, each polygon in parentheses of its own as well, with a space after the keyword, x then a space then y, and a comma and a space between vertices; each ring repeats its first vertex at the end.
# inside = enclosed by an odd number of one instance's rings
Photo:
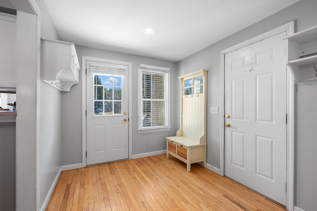
POLYGON ((169 128, 169 68, 139 65, 139 130, 169 128))

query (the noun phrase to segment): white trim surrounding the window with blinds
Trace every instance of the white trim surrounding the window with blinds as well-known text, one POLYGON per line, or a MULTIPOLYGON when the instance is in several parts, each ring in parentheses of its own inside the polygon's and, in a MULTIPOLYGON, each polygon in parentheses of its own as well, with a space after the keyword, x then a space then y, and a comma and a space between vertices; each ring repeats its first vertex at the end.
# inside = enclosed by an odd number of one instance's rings
POLYGON ((170 69, 166 67, 159 67, 159 66, 152 66, 152 65, 146 65, 146 64, 139 64, 138 66, 138 133, 144 133, 144 132, 157 132, 157 131, 167 131, 170 130, 170 69), (167 74, 167 115, 166 115, 166 126, 153 126, 153 127, 142 127, 142 121, 140 117, 141 112, 141 91, 142 88, 141 85, 141 71, 147 69, 151 73, 165 73, 167 74))

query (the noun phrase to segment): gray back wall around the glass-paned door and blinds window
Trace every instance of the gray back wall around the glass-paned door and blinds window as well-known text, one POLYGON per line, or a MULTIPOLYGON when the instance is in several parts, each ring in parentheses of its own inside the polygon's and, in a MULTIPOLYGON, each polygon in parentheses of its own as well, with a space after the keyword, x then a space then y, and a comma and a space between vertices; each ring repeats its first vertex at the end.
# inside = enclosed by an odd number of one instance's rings
MULTIPOLYGON (((178 101, 178 92, 175 84, 178 83, 177 65, 175 62, 154 59, 149 57, 118 53, 102 49, 90 48, 76 45, 76 52, 81 66, 82 56, 91 56, 104 59, 119 60, 132 63, 132 155, 166 150, 166 136, 176 134, 175 127, 179 119, 174 112, 178 101), (137 132, 137 73, 139 64, 148 64, 170 68, 171 73, 171 130, 162 132, 137 132), (175 83, 176 82, 176 83, 175 83), (177 93, 177 94, 175 94, 177 93)), ((81 67, 83 70, 83 67, 81 67)), ((77 164, 82 162, 82 136, 81 136, 81 73, 80 83, 74 85, 70 92, 62 93, 62 165, 77 164), (69 106, 71 105, 71 106, 69 106)))

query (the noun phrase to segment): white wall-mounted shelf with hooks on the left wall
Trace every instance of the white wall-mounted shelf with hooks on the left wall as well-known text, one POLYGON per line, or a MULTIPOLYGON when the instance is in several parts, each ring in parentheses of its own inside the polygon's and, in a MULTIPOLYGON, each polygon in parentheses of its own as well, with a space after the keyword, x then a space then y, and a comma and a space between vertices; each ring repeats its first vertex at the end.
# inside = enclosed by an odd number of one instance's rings
POLYGON ((41 39, 41 79, 60 91, 70 91, 79 81, 79 63, 70 42, 41 39))

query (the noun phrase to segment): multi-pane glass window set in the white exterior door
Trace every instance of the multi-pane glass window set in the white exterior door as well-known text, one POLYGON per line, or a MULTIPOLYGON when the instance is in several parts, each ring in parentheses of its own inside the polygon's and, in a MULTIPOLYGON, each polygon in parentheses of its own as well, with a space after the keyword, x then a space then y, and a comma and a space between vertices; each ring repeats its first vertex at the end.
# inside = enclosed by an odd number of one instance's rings
POLYGON ((94 115, 122 115, 122 76, 94 74, 94 115))

